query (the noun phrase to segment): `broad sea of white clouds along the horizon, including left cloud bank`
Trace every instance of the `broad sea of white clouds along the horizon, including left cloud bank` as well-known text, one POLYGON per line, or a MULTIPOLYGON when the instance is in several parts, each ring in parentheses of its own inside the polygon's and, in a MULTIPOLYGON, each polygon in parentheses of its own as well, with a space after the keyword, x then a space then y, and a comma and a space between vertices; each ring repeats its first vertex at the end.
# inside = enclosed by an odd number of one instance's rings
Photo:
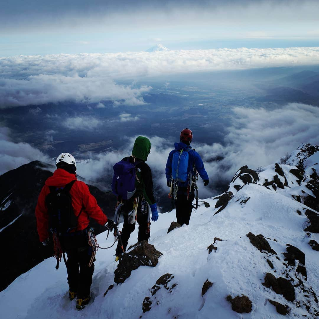
MULTIPOLYGON (((211 49, 0 57, 0 108, 49 102, 144 104, 139 77, 319 63, 319 47, 211 49)), ((102 107, 100 105, 100 107, 102 107)))

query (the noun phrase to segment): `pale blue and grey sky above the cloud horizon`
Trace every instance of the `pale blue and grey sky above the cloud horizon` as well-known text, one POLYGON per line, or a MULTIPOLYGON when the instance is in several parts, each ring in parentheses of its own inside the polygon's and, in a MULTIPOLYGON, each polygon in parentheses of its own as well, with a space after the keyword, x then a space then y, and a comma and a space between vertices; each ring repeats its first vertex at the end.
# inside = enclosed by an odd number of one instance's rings
POLYGON ((317 1, 11 0, 0 56, 319 46, 317 1))

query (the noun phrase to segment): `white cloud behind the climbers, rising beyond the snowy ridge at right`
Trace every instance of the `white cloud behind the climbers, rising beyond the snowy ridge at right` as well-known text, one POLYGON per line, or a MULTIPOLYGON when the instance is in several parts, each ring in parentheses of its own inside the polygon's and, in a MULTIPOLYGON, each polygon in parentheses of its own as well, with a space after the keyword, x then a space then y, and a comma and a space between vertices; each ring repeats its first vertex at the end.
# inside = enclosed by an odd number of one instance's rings
MULTIPOLYGON (((292 152, 301 143, 319 144, 319 108, 310 105, 291 103, 272 111, 263 108, 235 108, 233 125, 228 129, 225 146, 214 143, 198 144, 196 130, 193 130, 192 146, 201 155, 210 178, 210 188, 198 181, 201 198, 216 195, 222 184, 228 185, 235 172, 244 165, 251 169, 267 166, 279 160, 287 152, 292 152), (218 159, 219 158, 219 159, 218 159)), ((136 137, 123 143, 127 152, 110 151, 92 157, 81 164, 78 174, 87 179, 113 175, 112 167, 124 156, 129 156, 136 137), (83 172, 82 172, 83 170, 83 172)), ((152 169, 155 185, 162 194, 168 193, 165 165, 168 153, 174 148, 175 140, 150 137, 151 153, 147 164, 152 169)), ((110 181, 111 182, 111 181, 110 181)))

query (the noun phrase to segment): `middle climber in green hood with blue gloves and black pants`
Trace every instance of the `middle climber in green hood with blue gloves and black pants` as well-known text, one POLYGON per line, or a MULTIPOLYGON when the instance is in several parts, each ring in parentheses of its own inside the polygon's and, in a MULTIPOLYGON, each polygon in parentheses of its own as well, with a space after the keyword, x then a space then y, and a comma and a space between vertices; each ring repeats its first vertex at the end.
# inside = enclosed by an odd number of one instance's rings
POLYGON ((159 217, 157 212, 157 205, 153 195, 153 180, 151 168, 145 163, 149 153, 151 152, 151 142, 147 137, 139 136, 136 138, 132 155, 124 157, 122 161, 128 161, 135 165, 136 169, 136 192, 130 199, 124 200, 123 205, 123 229, 121 233, 121 239, 123 249, 120 241, 115 251, 115 261, 121 258, 123 250, 126 250, 127 242, 130 238, 130 234, 135 229, 135 223, 138 223, 138 236, 137 242, 150 238, 150 214, 148 211, 148 205, 152 211, 152 221, 156 221, 159 217))

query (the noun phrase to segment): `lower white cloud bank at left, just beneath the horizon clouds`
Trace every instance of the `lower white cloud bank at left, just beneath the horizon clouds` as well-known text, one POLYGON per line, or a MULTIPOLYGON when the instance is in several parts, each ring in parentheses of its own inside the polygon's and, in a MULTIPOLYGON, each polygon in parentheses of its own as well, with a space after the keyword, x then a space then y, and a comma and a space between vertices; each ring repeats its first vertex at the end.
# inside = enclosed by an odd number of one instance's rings
MULTIPOLYGON (((32 72, 30 70, 30 72, 32 72)), ((0 105, 23 106, 59 101, 99 102, 121 100, 126 104, 143 104, 140 95, 150 87, 116 85, 109 78, 65 76, 61 74, 30 75, 25 79, 0 80, 0 105)))

